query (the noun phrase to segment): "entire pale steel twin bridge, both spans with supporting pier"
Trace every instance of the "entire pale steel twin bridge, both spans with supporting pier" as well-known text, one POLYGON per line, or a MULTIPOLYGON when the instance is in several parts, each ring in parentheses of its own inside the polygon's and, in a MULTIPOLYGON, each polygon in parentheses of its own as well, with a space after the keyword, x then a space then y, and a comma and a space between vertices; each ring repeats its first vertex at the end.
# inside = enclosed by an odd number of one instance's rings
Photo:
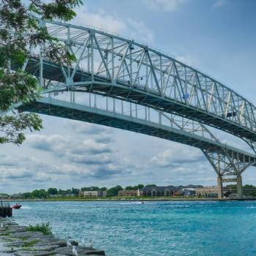
MULTIPOLYGON (((222 182, 256 166, 255 154, 222 143, 209 127, 245 140, 256 152, 256 108, 209 75, 133 40, 88 27, 40 20, 75 54, 72 66, 53 63, 45 48, 31 49, 22 69, 37 76, 43 98, 21 111, 127 129, 195 146, 222 182), (68 96, 68 97, 67 97, 68 96)), ((12 69, 18 67, 12 66, 12 69)), ((235 177, 235 178, 234 178, 235 177)))

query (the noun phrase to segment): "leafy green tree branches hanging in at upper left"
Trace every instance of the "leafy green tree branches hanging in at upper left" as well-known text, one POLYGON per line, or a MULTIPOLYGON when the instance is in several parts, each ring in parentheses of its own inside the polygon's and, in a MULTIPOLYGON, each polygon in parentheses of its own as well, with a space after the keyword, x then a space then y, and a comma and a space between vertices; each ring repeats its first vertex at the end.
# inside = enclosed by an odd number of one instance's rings
POLYGON ((42 129, 42 120, 36 114, 10 112, 15 103, 26 104, 39 97, 37 78, 22 66, 29 57, 29 47, 38 45, 50 45, 45 53, 51 61, 61 59, 70 64, 75 60, 47 29, 39 26, 37 18, 69 21, 79 4, 81 0, 29 0, 27 5, 22 0, 0 1, 0 143, 20 145, 25 140, 25 129, 42 129))

